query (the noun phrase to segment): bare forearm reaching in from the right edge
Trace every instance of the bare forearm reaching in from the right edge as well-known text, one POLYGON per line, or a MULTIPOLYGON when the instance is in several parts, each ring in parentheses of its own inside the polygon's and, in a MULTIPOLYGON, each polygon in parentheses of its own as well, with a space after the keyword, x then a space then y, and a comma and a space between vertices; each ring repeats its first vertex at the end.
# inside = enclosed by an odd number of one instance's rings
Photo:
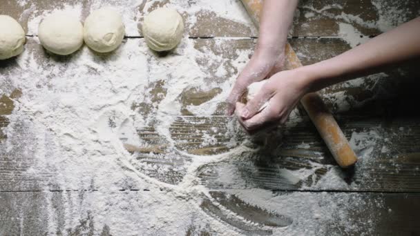
POLYGON ((420 17, 302 70, 309 75, 309 90, 314 91, 414 57, 420 57, 420 17))

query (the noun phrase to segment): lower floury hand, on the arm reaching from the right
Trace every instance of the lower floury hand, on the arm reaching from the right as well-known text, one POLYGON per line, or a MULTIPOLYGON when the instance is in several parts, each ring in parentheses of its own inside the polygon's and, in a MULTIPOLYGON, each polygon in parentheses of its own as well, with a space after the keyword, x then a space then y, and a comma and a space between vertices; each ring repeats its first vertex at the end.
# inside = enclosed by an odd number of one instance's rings
POLYGON ((276 73, 262 86, 254 99, 247 104, 236 103, 236 115, 249 133, 284 124, 300 99, 309 92, 309 78, 301 70, 285 70, 276 73), (268 101, 267 106, 260 110, 268 101))

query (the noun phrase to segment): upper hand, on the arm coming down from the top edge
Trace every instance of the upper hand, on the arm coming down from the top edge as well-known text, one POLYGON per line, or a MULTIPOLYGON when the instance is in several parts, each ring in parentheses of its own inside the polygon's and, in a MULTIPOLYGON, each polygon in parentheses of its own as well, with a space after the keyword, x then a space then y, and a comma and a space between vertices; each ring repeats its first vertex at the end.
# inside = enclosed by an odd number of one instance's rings
POLYGON ((229 97, 227 98, 227 115, 233 115, 236 101, 240 99, 247 87, 254 82, 271 77, 283 68, 285 47, 257 46, 247 66, 240 72, 229 97))

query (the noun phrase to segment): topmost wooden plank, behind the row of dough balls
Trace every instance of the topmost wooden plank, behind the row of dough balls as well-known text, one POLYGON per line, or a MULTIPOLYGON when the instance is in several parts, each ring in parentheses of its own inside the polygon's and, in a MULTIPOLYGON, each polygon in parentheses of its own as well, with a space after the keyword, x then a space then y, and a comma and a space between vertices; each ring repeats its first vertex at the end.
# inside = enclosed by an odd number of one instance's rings
MULTIPOLYGON (((247 17, 240 1, 143 1, 140 4, 131 2, 115 4, 121 8, 124 20, 129 23, 127 36, 139 37, 141 32, 136 24, 141 26, 144 15, 155 8, 171 5, 176 6, 184 17, 187 35, 189 37, 257 37, 258 32, 247 17), (218 6, 213 7, 213 6, 218 6), (225 6, 221 8, 220 6, 225 6), (202 9, 200 9, 202 8, 202 9), (233 10, 229 14, 227 9, 233 10), (138 13, 138 14, 137 14, 138 13), (127 18, 131 17, 131 18, 127 18)), ((3 1, 0 14, 9 14, 18 19, 28 32, 28 21, 39 17, 44 12, 64 9, 68 6, 78 6, 82 21, 88 16, 90 9, 109 5, 108 1, 83 0, 70 3, 68 0, 42 0, 19 2, 17 0, 3 1)), ((390 27, 395 27, 403 21, 419 16, 419 1, 345 1, 337 3, 334 0, 300 1, 296 10, 294 26, 291 35, 294 37, 336 37, 343 36, 341 25, 348 24, 354 28, 354 33, 370 36, 378 35, 390 27), (382 26, 382 25, 383 26, 382 26), (381 25, 381 26, 379 26, 381 25)), ((343 26, 343 25, 342 25, 343 26)), ((140 27, 141 28, 141 27, 140 27)), ((29 35, 36 35, 36 29, 29 30, 29 35)))

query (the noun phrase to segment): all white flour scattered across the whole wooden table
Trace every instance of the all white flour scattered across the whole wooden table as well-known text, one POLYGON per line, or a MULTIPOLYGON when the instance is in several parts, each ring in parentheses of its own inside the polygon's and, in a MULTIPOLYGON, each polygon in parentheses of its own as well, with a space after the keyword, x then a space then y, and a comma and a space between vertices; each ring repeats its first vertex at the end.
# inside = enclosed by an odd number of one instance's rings
MULTIPOLYGON (((37 35, 37 26, 46 15, 59 10, 71 12, 83 21, 88 12, 82 12, 84 6, 52 6, 49 11, 40 11, 35 3, 19 0, 20 6, 28 6, 29 21, 28 35, 37 35)), ((140 36, 137 23, 142 19, 138 8, 142 1, 95 1, 89 8, 102 6, 117 6, 122 11, 127 36, 140 36)), ((144 5, 148 12, 155 1, 144 5)), ((197 21, 195 13, 201 10, 217 12, 218 17, 243 23, 250 26, 251 21, 238 1, 171 1, 170 6, 181 13, 187 14, 189 26, 197 21)), ((375 5, 381 13, 381 4, 375 5)), ((325 6, 315 12, 324 12, 333 8, 341 9, 339 4, 325 6)), ((382 10, 380 22, 367 23, 367 26, 388 29, 405 18, 389 21, 388 12, 382 10), (383 26, 383 27, 382 27, 383 26)), ((306 17, 314 17, 308 13, 306 17)), ((348 19, 340 23, 338 35, 343 37, 350 46, 361 43, 360 32, 351 23, 360 23, 356 17, 341 16, 348 19)), ((215 39, 215 46, 223 49, 227 41, 240 40, 238 38, 215 39)), ((365 38, 363 38, 365 40, 365 38)), ((204 50, 195 48, 197 39, 184 37, 176 50, 166 57, 153 54, 143 39, 125 39, 120 48, 110 55, 98 56, 86 46, 66 58, 46 55, 41 46, 37 45, 37 37, 30 38, 30 46, 17 58, 17 68, 12 72, 0 75, 0 94, 10 94, 13 88, 22 91, 22 97, 15 100, 15 110, 8 117, 9 126, 3 130, 7 135, 6 147, 8 151, 15 150, 19 155, 33 157, 33 166, 26 170, 27 177, 47 176, 41 181, 41 189, 59 190, 89 190, 80 200, 81 192, 63 191, 50 193, 46 190, 48 212, 48 232, 57 232, 59 219, 64 221, 64 228, 75 228, 81 219, 86 219, 86 211, 93 215, 95 235, 108 227, 113 235, 177 235, 184 233, 189 227, 207 228, 218 232, 219 235, 240 235, 231 226, 204 213, 200 204, 202 199, 210 197, 209 190, 199 184, 198 170, 202 166, 217 163, 231 157, 238 157, 245 151, 251 151, 245 145, 233 148, 228 153, 220 155, 198 156, 182 150, 176 150, 175 140, 171 136, 171 124, 177 116, 182 115, 180 95, 189 88, 210 90, 220 88, 221 92, 209 101, 199 106, 189 105, 187 110, 193 115, 207 117, 214 114, 220 101, 225 100, 238 72, 245 66, 251 54, 251 49, 236 50, 234 59, 222 58, 210 50, 210 43, 204 50), (219 66, 213 75, 208 75, 207 68, 198 63, 200 59, 216 61, 219 66), (231 63, 231 67, 224 66, 231 63), (235 72, 232 68, 236 68, 235 72), (16 77, 19 75, 19 77, 16 77), (218 77, 222 79, 217 79, 218 77), (216 78, 216 79, 214 79, 216 78), (164 80, 162 99, 153 104, 150 85, 164 80), (132 109, 133 104, 153 104, 150 114, 140 112, 140 108, 132 109), (156 132, 165 139, 173 159, 182 156, 178 161, 185 161, 185 166, 175 166, 173 170, 185 169, 185 175, 178 185, 166 184, 158 179, 142 173, 136 166, 138 160, 135 155, 126 151, 121 139, 124 134, 126 144, 134 146, 148 146, 146 141, 137 135, 138 129, 154 126, 156 132), (176 150, 176 151, 174 151, 176 150), (183 160, 185 159, 185 160, 183 160), (48 173, 53 173, 49 176, 48 173), (49 184, 53 184, 50 186, 49 184), (126 191, 122 192, 121 189, 126 191), (131 190, 128 190, 131 189, 131 190), (138 191, 133 191, 133 189, 138 191), (95 191, 93 191, 95 190, 95 191), (97 190, 97 191, 96 191, 97 190), (144 191, 146 190, 146 191, 144 191), (55 198, 59 196, 63 201, 64 212, 57 213, 55 198), (112 215, 113 217, 109 217, 112 215)), ((386 75, 369 77, 370 81, 378 80, 386 75)), ((343 87, 365 86, 361 79, 343 83, 343 87)), ((374 90, 373 86, 366 89, 374 90)), ((348 110, 363 104, 348 97, 344 92, 326 95, 327 100, 335 104, 336 110, 348 110)), ((292 112, 289 124, 297 124, 301 117, 297 110, 292 112)), ((229 127, 229 131, 238 132, 236 127, 229 127), (235 131, 236 130, 236 131, 235 131)), ((354 132, 350 139, 352 147, 361 155, 365 164, 369 164, 370 152, 379 143, 385 142, 379 137, 375 129, 354 132)), ((222 134, 214 128, 216 135, 222 134)), ((204 134, 202 146, 216 143, 216 135, 204 134)), ((231 143, 236 144, 236 137, 231 143)), ((307 149, 310 144, 300 144, 297 148, 307 149)), ((387 148, 381 150, 386 153, 387 148)), ((158 157, 152 155, 151 157, 158 157)), ((241 161, 237 159, 236 161, 241 161)), ((157 175, 165 175, 169 168, 161 168, 157 164, 142 164, 142 168, 154 171, 157 175)), ((320 168, 316 164, 303 170, 281 171, 280 175, 289 179, 292 184, 309 178, 315 170, 320 168)), ((331 187, 347 188, 341 177, 340 170, 329 166, 325 176, 318 181, 314 188, 331 187)), ((226 178, 237 176, 227 173, 226 178)), ((241 181, 241 179, 236 179, 241 181)), ((353 185, 354 186, 354 185, 353 185)), ((303 185, 302 188, 305 189, 303 185)), ((351 186, 350 186, 351 187, 351 186)), ((367 197, 356 194, 328 194, 328 193, 284 193, 281 195, 262 189, 229 190, 230 194, 240 197, 251 205, 258 205, 265 210, 284 214, 294 219, 295 224, 288 228, 275 228, 278 233, 295 235, 327 234, 326 224, 336 222, 336 226, 343 226, 346 233, 358 231, 358 222, 347 201, 353 201, 356 207, 371 207, 376 204, 381 207, 381 200, 373 202, 367 197), (307 217, 307 216, 311 217, 307 217), (314 220, 312 220, 314 219, 314 220), (305 226, 305 227, 302 227, 305 226)), ((380 199, 380 198, 379 198, 380 199)), ((213 201, 217 204, 216 201, 213 201)), ((375 206, 376 206, 375 205, 375 206)), ((233 217, 233 213, 228 213, 233 217)), ((372 216, 372 218, 374 218, 372 216)), ((361 222, 359 222, 361 223, 361 222)), ((250 223, 253 224, 252 222, 250 223)), ((374 228, 375 222, 363 222, 365 228, 374 228), (367 226, 367 227, 366 227, 367 226)), ((366 232, 369 235, 369 232, 366 232)))

